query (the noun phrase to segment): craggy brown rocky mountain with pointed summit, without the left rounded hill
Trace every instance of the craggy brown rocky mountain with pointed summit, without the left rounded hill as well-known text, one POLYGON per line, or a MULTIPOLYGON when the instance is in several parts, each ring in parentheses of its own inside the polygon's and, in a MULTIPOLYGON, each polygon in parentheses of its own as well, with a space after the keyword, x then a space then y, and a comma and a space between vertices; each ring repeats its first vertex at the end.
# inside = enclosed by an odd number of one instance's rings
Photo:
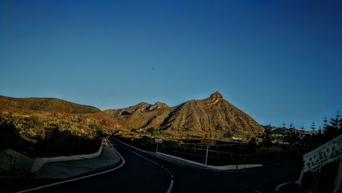
POLYGON ((139 103, 120 110, 105 110, 129 129, 154 127, 171 132, 239 133, 257 136, 263 127, 226 101, 220 92, 208 99, 190 100, 176 107, 165 103, 139 103))

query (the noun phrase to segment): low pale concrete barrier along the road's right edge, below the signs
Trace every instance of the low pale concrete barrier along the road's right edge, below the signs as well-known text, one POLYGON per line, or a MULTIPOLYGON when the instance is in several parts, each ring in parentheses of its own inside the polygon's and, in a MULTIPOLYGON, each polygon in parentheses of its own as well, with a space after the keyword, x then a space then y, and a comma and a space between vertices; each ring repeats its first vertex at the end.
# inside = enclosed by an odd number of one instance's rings
POLYGON ((171 157, 173 159, 178 159, 181 160, 183 162, 187 162, 189 164, 195 164, 198 166, 202 166, 202 167, 207 167, 207 168, 211 168, 211 169, 215 169, 215 170, 241 170, 241 169, 247 169, 247 168, 258 168, 258 167, 262 167, 263 164, 239 164, 239 165, 226 165, 226 166, 211 166, 211 165, 207 165, 205 166, 205 164, 199 163, 199 162, 194 162, 192 160, 189 159, 183 159, 181 157, 176 157, 174 155, 168 155, 165 153, 160 153, 157 152, 157 154, 159 155, 163 155, 165 157, 171 157))

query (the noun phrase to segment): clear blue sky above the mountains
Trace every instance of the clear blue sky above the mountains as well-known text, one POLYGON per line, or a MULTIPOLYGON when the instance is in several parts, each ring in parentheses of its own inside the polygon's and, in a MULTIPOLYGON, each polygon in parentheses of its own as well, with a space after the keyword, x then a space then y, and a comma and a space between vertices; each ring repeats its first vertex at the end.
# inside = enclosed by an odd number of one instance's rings
POLYGON ((261 124, 342 111, 342 1, 3 1, 0 94, 102 110, 224 97, 261 124))

